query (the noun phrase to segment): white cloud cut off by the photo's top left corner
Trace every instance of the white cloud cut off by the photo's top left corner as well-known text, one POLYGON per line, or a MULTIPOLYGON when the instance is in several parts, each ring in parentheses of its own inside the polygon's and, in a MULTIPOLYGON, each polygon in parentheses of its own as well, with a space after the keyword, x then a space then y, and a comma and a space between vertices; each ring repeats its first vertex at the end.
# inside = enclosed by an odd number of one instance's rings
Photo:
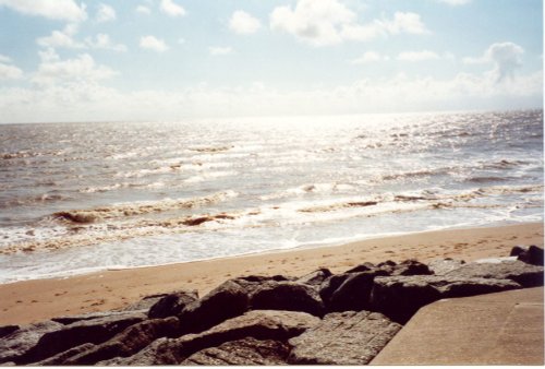
POLYGON ((73 0, 0 0, 1 5, 22 14, 51 20, 80 22, 87 19, 85 4, 77 4, 73 0))

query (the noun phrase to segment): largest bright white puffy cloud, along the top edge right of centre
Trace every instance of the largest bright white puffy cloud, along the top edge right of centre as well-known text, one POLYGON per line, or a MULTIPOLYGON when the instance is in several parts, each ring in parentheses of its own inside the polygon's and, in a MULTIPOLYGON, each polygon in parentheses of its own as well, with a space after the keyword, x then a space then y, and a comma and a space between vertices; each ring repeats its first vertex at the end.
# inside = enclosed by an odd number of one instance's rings
POLYGON ((343 40, 367 41, 378 36, 428 33, 416 13, 396 12, 393 19, 358 22, 356 13, 339 0, 299 0, 295 8, 277 7, 270 14, 270 27, 294 35, 313 46, 343 40))

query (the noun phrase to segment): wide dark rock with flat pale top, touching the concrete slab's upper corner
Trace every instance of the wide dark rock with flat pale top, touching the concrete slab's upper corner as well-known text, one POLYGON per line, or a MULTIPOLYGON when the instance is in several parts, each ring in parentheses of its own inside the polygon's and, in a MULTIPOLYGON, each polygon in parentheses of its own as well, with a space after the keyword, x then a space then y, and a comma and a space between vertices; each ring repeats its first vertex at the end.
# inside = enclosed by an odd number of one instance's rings
POLYGON ((440 275, 376 277, 371 291, 373 310, 404 324, 421 307, 441 298, 463 297, 521 288, 509 279, 440 275))

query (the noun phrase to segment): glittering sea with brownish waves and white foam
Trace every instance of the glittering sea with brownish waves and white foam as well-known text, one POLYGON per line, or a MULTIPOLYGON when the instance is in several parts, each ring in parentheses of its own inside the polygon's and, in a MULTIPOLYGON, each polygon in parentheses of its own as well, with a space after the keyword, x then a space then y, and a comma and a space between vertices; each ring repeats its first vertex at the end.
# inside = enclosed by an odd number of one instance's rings
POLYGON ((543 110, 0 126, 0 283, 543 221, 543 110))

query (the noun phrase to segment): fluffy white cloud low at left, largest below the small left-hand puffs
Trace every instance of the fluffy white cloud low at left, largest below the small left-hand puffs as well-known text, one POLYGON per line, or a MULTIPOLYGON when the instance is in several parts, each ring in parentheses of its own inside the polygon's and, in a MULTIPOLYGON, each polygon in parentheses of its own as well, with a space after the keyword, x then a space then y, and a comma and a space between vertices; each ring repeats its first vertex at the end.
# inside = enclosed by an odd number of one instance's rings
POLYGON ((40 64, 32 81, 40 86, 59 85, 73 82, 98 82, 117 73, 95 62, 88 53, 61 60, 53 49, 39 52, 40 64))

